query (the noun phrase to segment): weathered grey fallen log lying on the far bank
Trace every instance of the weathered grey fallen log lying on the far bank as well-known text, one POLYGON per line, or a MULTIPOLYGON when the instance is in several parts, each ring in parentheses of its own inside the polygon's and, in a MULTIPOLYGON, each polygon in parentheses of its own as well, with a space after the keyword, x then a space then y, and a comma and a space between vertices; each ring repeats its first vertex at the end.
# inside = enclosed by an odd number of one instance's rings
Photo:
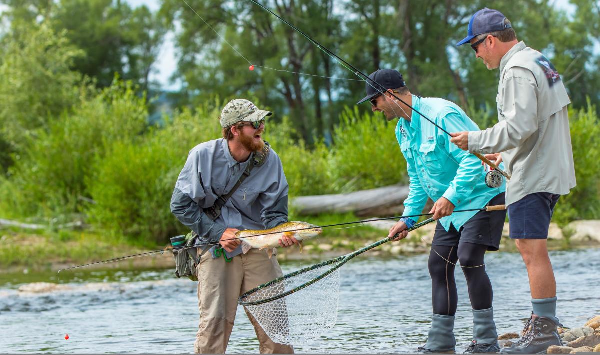
POLYGON ((392 185, 338 195, 293 198, 290 207, 300 215, 353 212, 357 216, 394 216, 404 211, 409 187, 392 185))

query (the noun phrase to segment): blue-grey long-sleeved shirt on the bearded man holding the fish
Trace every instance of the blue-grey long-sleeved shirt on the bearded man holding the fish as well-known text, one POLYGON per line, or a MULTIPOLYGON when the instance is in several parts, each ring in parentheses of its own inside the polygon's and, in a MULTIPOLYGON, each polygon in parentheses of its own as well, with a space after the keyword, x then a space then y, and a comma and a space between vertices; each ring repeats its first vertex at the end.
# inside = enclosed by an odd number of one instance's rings
MULTIPOLYGON (((251 155, 253 157, 253 155, 251 155)), ((184 169, 179 174, 171 198, 171 212, 186 227, 195 231, 202 243, 216 243, 226 228, 262 230, 287 222, 286 175, 279 156, 271 149, 260 167, 254 167, 212 221, 203 212, 213 206, 218 197, 228 194, 250 164, 233 159, 225 139, 202 143, 190 151, 184 169)), ((215 257, 217 245, 211 252, 215 257)), ((242 253, 241 245, 227 257, 242 253)))

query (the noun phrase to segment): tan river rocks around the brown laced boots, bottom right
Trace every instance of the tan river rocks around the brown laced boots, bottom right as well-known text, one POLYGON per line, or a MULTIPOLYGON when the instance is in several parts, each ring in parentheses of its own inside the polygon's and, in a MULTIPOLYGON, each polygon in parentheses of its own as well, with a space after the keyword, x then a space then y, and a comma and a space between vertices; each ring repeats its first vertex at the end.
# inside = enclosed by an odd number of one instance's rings
MULTIPOLYGON (((590 318, 582 327, 561 327, 559 333, 564 346, 552 345, 548 354, 600 353, 600 315, 590 318)), ((518 333, 506 333, 498 341, 500 347, 510 347, 518 338, 518 333)))

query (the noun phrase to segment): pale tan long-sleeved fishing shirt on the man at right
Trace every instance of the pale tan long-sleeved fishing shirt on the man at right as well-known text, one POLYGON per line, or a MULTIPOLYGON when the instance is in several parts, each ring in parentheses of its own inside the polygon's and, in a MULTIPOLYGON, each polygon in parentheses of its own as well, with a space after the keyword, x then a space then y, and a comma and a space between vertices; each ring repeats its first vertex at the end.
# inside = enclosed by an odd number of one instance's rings
POLYGON ((500 61, 498 124, 469 133, 469 151, 502 153, 506 205, 526 195, 566 195, 574 188, 575 164, 567 106, 571 103, 556 68, 542 53, 518 43, 500 61))

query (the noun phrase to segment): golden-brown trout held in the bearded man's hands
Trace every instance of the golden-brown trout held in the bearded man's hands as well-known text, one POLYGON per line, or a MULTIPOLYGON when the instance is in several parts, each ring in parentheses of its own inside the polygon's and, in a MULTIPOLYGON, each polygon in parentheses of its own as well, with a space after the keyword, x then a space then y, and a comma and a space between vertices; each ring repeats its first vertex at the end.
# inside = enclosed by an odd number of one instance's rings
POLYGON ((302 242, 302 240, 316 237, 322 232, 323 230, 321 228, 307 222, 287 222, 267 230, 241 230, 236 232, 235 236, 241 238, 242 252, 244 252, 244 254, 246 254, 252 248, 260 250, 268 248, 269 258, 271 258, 273 255, 273 249, 279 246, 279 240, 281 237, 293 237, 299 242, 302 242), (295 231, 304 228, 312 229, 295 231))

